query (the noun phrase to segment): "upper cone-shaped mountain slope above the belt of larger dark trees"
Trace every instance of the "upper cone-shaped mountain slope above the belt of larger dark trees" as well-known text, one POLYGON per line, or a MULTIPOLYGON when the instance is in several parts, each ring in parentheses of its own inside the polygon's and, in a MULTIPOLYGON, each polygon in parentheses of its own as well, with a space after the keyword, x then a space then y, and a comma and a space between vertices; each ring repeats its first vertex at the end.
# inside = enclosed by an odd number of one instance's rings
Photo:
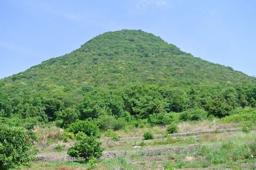
POLYGON ((70 54, 52 58, 1 83, 41 85, 47 80, 64 87, 122 86, 128 82, 180 84, 209 81, 255 81, 231 67, 194 58, 176 46, 143 31, 122 30, 96 36, 70 54), (40 79, 40 81, 37 81, 40 79))

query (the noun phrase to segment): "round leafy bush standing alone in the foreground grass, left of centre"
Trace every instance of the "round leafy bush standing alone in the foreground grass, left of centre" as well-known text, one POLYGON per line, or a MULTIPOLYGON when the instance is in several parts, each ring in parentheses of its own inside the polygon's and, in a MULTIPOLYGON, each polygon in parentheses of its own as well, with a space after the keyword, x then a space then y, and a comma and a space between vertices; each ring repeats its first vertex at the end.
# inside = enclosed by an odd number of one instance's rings
POLYGON ((74 143, 74 146, 67 150, 67 154, 71 157, 82 157, 89 160, 92 157, 101 157, 103 150, 101 142, 96 141, 95 136, 81 135, 79 140, 74 143))

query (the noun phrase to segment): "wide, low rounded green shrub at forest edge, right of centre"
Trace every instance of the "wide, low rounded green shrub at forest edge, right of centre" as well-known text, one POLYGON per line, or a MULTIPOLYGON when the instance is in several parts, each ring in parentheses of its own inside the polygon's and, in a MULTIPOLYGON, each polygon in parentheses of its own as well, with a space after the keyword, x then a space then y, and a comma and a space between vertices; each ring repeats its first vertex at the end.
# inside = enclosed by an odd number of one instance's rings
POLYGON ((189 109, 180 113, 180 120, 182 121, 200 121, 205 119, 207 112, 203 109, 189 109))

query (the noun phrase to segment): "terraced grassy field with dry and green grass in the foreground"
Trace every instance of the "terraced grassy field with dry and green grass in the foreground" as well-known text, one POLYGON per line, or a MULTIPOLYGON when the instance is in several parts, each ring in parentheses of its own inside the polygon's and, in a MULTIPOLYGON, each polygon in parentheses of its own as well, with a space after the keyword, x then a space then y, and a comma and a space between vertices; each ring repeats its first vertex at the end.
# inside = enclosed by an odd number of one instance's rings
POLYGON ((126 128, 116 131, 119 141, 102 134, 104 155, 93 163, 67 155, 66 150, 74 141, 60 141, 61 129, 38 127, 34 130, 41 137, 36 145, 39 161, 21 169, 256 169, 253 128, 245 133, 239 123, 215 120, 178 126, 178 134, 167 134, 165 127, 126 128), (148 130, 153 132, 154 139, 143 140, 143 132, 148 130))

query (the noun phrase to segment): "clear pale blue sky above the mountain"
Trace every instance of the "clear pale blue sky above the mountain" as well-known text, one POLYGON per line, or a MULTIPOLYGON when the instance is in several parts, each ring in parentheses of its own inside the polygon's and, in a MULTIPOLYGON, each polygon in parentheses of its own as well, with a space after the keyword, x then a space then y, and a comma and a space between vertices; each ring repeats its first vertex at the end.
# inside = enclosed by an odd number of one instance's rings
POLYGON ((256 75, 255 9, 256 0, 0 0, 0 78, 121 29, 256 75))

